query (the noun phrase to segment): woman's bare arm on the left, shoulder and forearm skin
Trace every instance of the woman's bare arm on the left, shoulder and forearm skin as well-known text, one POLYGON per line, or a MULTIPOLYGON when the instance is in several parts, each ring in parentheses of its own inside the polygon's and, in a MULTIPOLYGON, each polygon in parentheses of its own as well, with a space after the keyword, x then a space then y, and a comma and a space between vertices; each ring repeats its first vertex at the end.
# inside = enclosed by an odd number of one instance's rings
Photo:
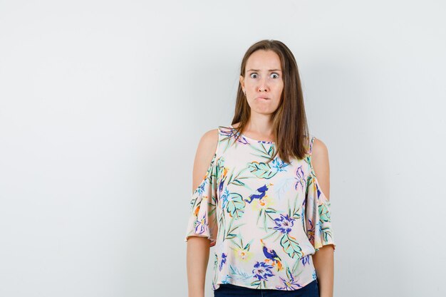
MULTIPOLYGON (((202 182, 214 157, 218 143, 218 130, 210 130, 199 140, 192 173, 192 192, 202 182)), ((190 236, 187 239, 187 286, 189 297, 204 297, 204 282, 209 261, 209 239, 190 236)))

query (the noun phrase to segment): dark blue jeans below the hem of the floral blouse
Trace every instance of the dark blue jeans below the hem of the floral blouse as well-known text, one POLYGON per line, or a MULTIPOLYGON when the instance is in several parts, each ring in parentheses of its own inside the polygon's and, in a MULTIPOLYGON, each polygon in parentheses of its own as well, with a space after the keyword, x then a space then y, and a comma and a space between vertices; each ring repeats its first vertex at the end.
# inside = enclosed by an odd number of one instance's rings
POLYGON ((220 283, 220 287, 214 291, 214 297, 319 297, 318 281, 315 279, 303 288, 294 291, 274 290, 270 288, 245 288, 234 286, 230 283, 220 283))

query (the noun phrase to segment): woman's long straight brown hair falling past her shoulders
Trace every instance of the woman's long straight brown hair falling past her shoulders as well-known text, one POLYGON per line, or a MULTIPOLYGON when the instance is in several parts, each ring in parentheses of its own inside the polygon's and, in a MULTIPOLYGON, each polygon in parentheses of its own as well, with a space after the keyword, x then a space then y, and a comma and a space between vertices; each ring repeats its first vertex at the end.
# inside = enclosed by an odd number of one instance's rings
MULTIPOLYGON (((245 76, 249 56, 259 50, 274 51, 279 56, 283 73, 282 79, 284 80, 279 107, 272 115, 276 151, 268 162, 274 160, 276 155, 279 155, 284 162, 290 162, 291 158, 304 159, 308 153, 308 123, 296 59, 281 41, 265 39, 248 48, 242 59, 240 75, 245 76)), ((240 123, 237 128, 234 128, 239 133, 238 137, 243 133, 250 115, 251 108, 239 82, 235 113, 232 119, 232 125, 240 123)))

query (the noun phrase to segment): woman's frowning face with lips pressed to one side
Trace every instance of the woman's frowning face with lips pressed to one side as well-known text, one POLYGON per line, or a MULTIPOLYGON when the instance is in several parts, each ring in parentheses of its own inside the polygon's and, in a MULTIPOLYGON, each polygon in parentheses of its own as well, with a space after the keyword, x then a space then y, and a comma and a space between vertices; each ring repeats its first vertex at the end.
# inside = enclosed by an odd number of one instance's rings
POLYGON ((274 51, 255 51, 249 56, 245 69, 245 75, 240 75, 240 84, 246 92, 251 113, 274 113, 284 89, 279 56, 274 51))

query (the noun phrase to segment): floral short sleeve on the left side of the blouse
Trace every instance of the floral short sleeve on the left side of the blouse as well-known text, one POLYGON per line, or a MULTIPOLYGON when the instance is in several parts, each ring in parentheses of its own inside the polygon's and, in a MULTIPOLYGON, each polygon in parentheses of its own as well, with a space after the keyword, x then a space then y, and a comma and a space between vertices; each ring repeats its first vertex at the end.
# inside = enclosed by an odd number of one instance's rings
POLYGON ((209 246, 214 246, 216 243, 218 231, 216 157, 217 154, 212 158, 202 182, 192 193, 185 241, 190 236, 203 236, 210 240, 209 246))

